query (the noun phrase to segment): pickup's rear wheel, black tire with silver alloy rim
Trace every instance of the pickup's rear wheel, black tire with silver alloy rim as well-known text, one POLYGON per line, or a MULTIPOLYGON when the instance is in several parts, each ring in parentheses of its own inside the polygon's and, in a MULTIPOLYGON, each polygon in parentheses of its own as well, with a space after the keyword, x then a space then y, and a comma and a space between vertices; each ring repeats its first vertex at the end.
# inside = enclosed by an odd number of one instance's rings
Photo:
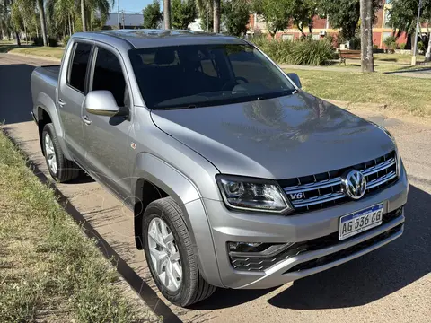
POLYGON ((51 177, 60 183, 76 179, 81 170, 75 162, 67 160, 64 156, 52 123, 43 127, 41 141, 51 177))

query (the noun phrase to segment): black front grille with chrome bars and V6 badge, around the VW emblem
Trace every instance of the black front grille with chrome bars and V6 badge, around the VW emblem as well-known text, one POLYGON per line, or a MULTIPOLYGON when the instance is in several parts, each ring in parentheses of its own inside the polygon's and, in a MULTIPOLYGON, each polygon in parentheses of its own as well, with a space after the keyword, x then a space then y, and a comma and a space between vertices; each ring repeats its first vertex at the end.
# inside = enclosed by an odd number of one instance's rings
POLYGON ((332 170, 296 179, 284 179, 284 188, 295 208, 295 213, 320 209, 347 202, 343 193, 341 176, 347 170, 359 170, 365 175, 366 194, 390 185, 397 179, 397 160, 395 152, 387 153, 368 162, 362 162, 340 170, 332 170))

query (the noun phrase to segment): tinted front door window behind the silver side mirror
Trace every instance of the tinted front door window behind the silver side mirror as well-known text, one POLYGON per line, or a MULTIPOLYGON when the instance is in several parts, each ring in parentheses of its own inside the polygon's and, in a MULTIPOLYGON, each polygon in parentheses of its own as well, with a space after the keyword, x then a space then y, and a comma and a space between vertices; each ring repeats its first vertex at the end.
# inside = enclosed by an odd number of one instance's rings
POLYGON ((127 97, 126 81, 124 79, 119 59, 109 50, 98 48, 92 91, 107 90, 112 93, 119 107, 124 107, 127 97))

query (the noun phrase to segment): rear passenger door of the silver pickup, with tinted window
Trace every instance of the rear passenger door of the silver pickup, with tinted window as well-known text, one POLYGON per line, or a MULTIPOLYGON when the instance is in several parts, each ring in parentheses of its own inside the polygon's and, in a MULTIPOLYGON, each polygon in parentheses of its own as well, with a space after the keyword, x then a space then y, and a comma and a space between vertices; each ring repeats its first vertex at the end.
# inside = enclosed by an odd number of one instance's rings
POLYGON ((82 109, 87 92, 92 43, 75 41, 58 82, 57 106, 65 131, 67 149, 76 162, 85 166, 84 122, 82 109))

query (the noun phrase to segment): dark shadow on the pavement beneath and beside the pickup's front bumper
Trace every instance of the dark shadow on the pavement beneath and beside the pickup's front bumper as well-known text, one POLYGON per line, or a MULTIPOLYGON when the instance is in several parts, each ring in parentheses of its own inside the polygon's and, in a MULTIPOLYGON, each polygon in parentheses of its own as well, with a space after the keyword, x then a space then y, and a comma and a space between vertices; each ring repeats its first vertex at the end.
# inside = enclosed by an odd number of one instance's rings
MULTIPOLYGON (((410 185, 406 226, 399 240, 320 274, 295 281, 268 299, 283 309, 317 310, 361 306, 377 301, 431 272, 431 196, 410 185)), ((272 291, 219 289, 193 309, 214 310, 252 301, 272 291)))

